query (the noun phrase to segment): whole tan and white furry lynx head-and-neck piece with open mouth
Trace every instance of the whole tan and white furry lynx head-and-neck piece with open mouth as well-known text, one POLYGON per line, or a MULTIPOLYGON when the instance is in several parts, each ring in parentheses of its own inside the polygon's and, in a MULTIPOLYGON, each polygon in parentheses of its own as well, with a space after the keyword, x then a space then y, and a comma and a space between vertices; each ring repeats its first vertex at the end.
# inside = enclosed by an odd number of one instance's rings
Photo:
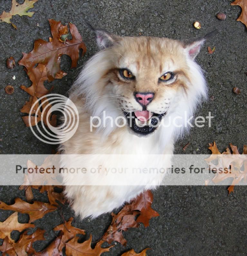
MULTIPOLYGON (((99 52, 89 59, 70 91, 70 99, 79 111, 79 127, 71 139, 61 145, 62 165, 115 165, 113 155, 164 155, 164 166, 171 165, 174 143, 188 128, 183 118, 179 125, 162 125, 168 120, 193 115, 207 97, 202 69, 195 62, 202 38, 178 41, 164 37, 120 37, 91 26, 96 33, 99 52), (93 116, 126 118, 125 126, 106 122, 90 123, 93 116), (92 129, 91 129, 92 128, 92 129), (89 154, 90 157, 80 157, 89 154), (74 156, 72 156, 74 155, 74 156), (86 159, 86 160, 85 160, 86 159), (85 163, 86 161, 86 163, 85 163)), ((97 217, 135 198, 144 190, 161 184, 162 173, 104 175, 63 174, 66 196, 76 215, 97 217), (92 181, 107 185, 93 185, 92 181), (116 186, 116 181, 126 182, 116 186)))

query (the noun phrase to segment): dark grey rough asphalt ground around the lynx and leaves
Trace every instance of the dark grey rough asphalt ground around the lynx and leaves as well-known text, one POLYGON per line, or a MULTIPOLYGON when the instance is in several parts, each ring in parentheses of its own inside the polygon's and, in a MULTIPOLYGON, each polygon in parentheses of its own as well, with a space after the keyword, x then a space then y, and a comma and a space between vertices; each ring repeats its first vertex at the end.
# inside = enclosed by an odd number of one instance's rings
MULTIPOLYGON (((20 3, 24 1, 18 1, 20 3)), ((220 150, 229 143, 238 145, 240 151, 247 143, 246 137, 246 27, 235 21, 241 8, 230 6, 231 0, 180 0, 180 1, 112 1, 112 0, 39 0, 32 18, 13 17, 18 27, 14 30, 10 24, 0 23, 0 153, 1 154, 50 154, 52 146, 38 141, 21 119, 20 108, 28 100, 28 95, 19 86, 30 86, 22 66, 7 69, 5 61, 13 56, 22 58, 22 52, 33 49, 37 38, 48 40, 51 36, 47 19, 61 20, 63 24, 74 23, 88 48, 86 55, 79 60, 79 67, 96 51, 93 34, 83 25, 82 19, 88 19, 98 27, 104 27, 118 35, 171 37, 184 39, 198 37, 217 28, 219 33, 208 41, 197 57, 197 62, 205 70, 209 96, 198 110, 206 116, 211 111, 214 116, 211 128, 193 128, 189 135, 176 143, 176 154, 208 154, 208 143, 216 141, 220 150), (219 21, 215 15, 224 12, 225 21, 219 21), (193 27, 199 20, 200 30, 193 27), (37 23, 39 26, 37 26, 37 23), (215 46, 215 53, 209 55, 207 46, 215 46), (15 75, 16 80, 12 77, 15 75), (6 85, 14 86, 14 94, 5 94, 6 85), (233 94, 237 86, 240 95, 233 94), (184 152, 182 147, 190 142, 184 152)), ((8 11, 10 0, 0 2, 0 13, 8 11)), ((66 94, 80 69, 70 70, 69 57, 62 57, 62 70, 68 75, 55 80, 54 93, 66 94)), ((46 84, 50 87, 51 84, 46 84)), ((154 191, 153 208, 160 217, 154 218, 148 228, 141 226, 130 229, 124 234, 127 247, 117 244, 104 255, 121 255, 128 249, 139 252, 146 247, 152 248, 147 255, 246 255, 247 254, 247 188, 235 188, 235 193, 227 196, 224 186, 218 187, 160 187, 154 191)), ((24 198, 18 187, 0 187, 0 200, 10 203, 14 197, 24 198)), ((35 193, 35 199, 47 201, 45 195, 35 193)), ((0 221, 10 215, 10 211, 0 212, 0 221)), ((64 209, 65 219, 72 216, 69 208, 64 209)), ((25 221, 26 216, 20 216, 25 221)), ((110 215, 97 219, 75 219, 74 225, 86 229, 98 240, 110 223, 110 215)), ((41 250, 54 238, 52 228, 62 223, 59 213, 48 214, 35 224, 47 230, 47 242, 38 242, 41 250)), ((88 238, 88 236, 86 237, 88 238)))

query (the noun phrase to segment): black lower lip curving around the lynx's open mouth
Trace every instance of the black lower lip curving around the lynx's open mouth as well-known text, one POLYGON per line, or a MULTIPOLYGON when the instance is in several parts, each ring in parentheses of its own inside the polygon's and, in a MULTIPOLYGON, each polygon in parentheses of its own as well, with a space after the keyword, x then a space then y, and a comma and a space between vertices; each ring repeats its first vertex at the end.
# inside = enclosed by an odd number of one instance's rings
POLYGON ((158 127, 158 119, 159 121, 161 121, 161 119, 163 118, 163 116, 166 115, 166 112, 165 113, 162 113, 162 114, 157 114, 157 113, 153 113, 153 116, 152 117, 156 117, 156 118, 152 118, 152 121, 151 121, 151 125, 148 126, 143 126, 143 127, 139 127, 137 124, 136 124, 136 121, 135 121, 135 114, 134 112, 124 112, 127 120, 128 120, 128 124, 129 124, 129 128, 134 131, 135 133, 138 133, 140 135, 147 135, 147 134, 150 134, 150 133, 153 133, 157 127, 158 127))

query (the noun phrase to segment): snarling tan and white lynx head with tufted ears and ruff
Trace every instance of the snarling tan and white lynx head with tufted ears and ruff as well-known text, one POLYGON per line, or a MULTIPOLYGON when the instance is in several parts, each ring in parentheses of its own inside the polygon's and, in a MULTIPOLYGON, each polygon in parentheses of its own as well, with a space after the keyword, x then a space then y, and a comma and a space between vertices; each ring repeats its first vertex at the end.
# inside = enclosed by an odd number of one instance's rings
MULTIPOLYGON (((144 136, 162 130, 161 123, 169 116, 193 113, 206 97, 204 76, 194 59, 209 35, 181 42, 164 37, 119 37, 93 29, 100 51, 74 85, 74 93, 85 96, 85 107, 92 115, 125 116, 127 129, 144 136)), ((98 127, 108 134, 115 128, 98 127)))

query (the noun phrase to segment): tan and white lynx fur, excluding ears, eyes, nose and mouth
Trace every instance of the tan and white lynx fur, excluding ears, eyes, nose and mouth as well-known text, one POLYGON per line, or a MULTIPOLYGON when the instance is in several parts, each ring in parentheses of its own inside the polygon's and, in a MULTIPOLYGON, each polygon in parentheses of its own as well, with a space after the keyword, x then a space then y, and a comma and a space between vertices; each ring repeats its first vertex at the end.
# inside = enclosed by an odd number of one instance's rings
MULTIPOLYGON (((85 66, 72 88, 70 99, 79 111, 79 127, 74 136, 62 144, 64 154, 108 154, 108 156, 92 156, 91 161, 113 163, 113 154, 170 154, 163 157, 164 166, 169 167, 173 144, 177 134, 183 128, 158 127, 147 137, 139 137, 122 128, 94 128, 90 132, 90 116, 102 115, 103 110, 110 115, 123 115, 125 112, 141 111, 141 105, 134 98, 135 92, 153 92, 154 99, 147 106, 147 111, 164 113, 164 122, 168 117, 175 117, 188 110, 193 112, 198 100, 206 95, 204 78, 199 66, 190 59, 188 49, 176 40, 158 37, 112 37, 115 43, 97 53, 85 66), (135 80, 125 80, 119 69, 128 68, 135 80), (175 79, 161 82, 159 78, 165 72, 174 72, 175 79), (118 95, 104 96, 104 95, 118 95)), ((147 159, 148 161, 148 159, 147 159)), ((64 160, 63 165, 90 165, 81 163, 80 157, 64 160)), ((150 175, 145 184, 139 186, 85 186, 91 182, 91 176, 74 178, 64 175, 66 194, 73 201, 75 213, 82 218, 96 217, 113 208, 121 206, 125 201, 135 197, 143 189, 156 187, 162 182, 164 175, 150 175), (81 186, 78 184, 81 178, 81 186)), ((94 176, 104 179, 103 173, 94 176)), ((124 179, 122 176, 114 176, 124 179)), ((133 175, 133 182, 139 176, 133 175)), ((109 179, 110 180, 110 179, 109 179)), ((134 184, 134 183, 133 183, 134 184)))

